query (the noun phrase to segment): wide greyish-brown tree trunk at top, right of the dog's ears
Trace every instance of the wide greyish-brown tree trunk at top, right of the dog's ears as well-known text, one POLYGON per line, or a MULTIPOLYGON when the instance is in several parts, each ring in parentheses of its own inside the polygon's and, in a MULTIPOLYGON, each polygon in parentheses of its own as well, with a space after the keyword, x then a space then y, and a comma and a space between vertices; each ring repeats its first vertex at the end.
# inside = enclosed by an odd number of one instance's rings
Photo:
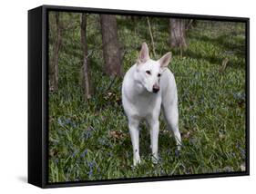
POLYGON ((171 48, 187 48, 186 41, 186 21, 184 19, 169 19, 170 47, 171 48))

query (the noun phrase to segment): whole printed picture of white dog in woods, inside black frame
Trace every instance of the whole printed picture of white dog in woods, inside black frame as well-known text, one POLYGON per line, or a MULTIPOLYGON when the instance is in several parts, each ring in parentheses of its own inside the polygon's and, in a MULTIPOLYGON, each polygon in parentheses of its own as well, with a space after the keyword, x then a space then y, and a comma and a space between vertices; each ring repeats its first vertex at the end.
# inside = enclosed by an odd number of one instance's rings
POLYGON ((246 23, 47 12, 47 181, 245 171, 246 23))

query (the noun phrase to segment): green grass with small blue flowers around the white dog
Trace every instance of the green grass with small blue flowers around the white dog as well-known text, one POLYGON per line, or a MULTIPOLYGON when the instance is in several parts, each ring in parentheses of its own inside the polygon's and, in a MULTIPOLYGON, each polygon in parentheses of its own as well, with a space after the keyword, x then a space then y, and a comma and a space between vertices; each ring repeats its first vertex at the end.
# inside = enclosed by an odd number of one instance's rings
MULTIPOLYGON (((128 122, 121 105, 121 79, 101 71, 103 63, 97 16, 90 16, 88 44, 93 53, 95 95, 82 99, 79 34, 70 43, 66 34, 60 57, 60 88, 49 94, 49 181, 123 179, 241 171, 245 163, 245 26, 200 21, 189 31, 189 48, 174 54, 169 69, 179 92, 179 129, 183 148, 175 154, 175 141, 160 117, 159 157, 152 164, 149 131, 140 125, 141 165, 132 166, 128 122), (95 37, 95 38, 92 38, 95 37), (75 44, 74 49, 68 49, 75 44), (71 54, 73 53, 73 54, 71 54), (221 62, 229 59, 225 71, 221 62), (113 83, 107 91, 108 86, 113 83)), ((168 21, 151 18, 158 57, 167 51, 168 21)), ((139 45, 150 43, 146 20, 137 24, 118 18, 118 35, 126 49, 125 71, 135 63, 139 45)), ((79 29, 77 28, 77 31, 79 29)), ((150 45, 149 45, 150 46, 150 45)), ((73 47, 72 47, 73 48, 73 47)), ((90 52, 90 51, 89 51, 90 52)))

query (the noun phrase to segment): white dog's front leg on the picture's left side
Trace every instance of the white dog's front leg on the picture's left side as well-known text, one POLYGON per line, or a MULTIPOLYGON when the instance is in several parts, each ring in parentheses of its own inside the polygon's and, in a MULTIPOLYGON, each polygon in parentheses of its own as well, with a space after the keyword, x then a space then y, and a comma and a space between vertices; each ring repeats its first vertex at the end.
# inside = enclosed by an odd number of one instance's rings
POLYGON ((139 121, 130 119, 128 121, 128 129, 130 133, 132 148, 133 148, 133 165, 136 166, 140 163, 139 157, 139 130, 138 130, 139 121))

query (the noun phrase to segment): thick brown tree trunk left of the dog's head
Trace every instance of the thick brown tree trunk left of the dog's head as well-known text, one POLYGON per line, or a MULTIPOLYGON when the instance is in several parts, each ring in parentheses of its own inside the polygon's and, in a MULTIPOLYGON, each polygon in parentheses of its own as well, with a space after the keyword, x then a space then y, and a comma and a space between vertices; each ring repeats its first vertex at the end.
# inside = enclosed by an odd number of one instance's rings
POLYGON ((110 76, 122 76, 118 26, 115 15, 100 15, 105 72, 110 76))

